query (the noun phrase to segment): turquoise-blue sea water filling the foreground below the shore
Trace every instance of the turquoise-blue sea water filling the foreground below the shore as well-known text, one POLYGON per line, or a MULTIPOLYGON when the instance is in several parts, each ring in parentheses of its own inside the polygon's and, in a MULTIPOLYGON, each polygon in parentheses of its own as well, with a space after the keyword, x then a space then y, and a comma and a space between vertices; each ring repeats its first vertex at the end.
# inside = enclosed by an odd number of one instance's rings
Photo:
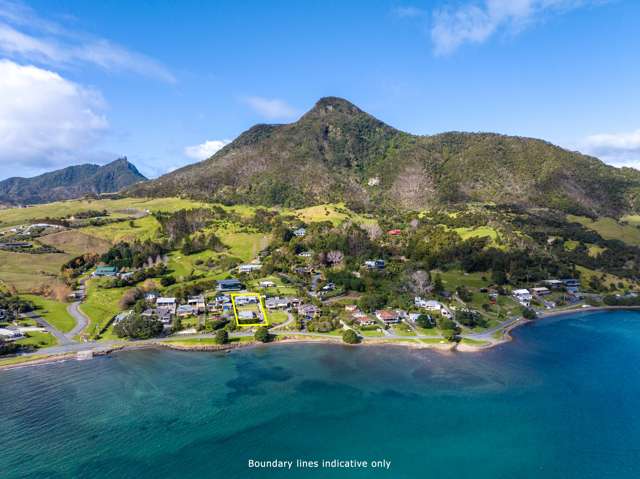
POLYGON ((0 372, 2 478, 637 478, 640 314, 479 354, 272 345, 0 372), (390 460, 249 469, 249 459, 390 460))

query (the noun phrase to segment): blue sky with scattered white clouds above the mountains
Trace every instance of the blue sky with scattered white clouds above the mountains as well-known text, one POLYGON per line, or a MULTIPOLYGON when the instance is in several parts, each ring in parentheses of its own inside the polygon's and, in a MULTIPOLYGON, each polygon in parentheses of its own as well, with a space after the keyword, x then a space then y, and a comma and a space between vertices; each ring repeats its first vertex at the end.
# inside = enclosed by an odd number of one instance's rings
POLYGON ((156 177, 323 96, 640 168, 639 19, 637 0, 0 0, 0 180, 121 156, 156 177))

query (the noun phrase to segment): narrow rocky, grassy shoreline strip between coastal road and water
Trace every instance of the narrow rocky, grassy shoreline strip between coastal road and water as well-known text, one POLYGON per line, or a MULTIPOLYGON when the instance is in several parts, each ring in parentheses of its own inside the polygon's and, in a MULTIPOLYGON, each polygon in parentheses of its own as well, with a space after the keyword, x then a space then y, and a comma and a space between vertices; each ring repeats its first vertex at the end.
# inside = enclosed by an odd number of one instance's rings
MULTIPOLYGON (((305 336, 304 338, 296 338, 295 333, 292 333, 291 336, 283 335, 282 339, 276 339, 274 341, 268 343, 260 343, 255 340, 246 341, 246 342, 238 342, 232 344, 213 344, 213 343, 204 343, 198 344, 194 342, 193 344, 185 344, 189 338, 185 338, 184 342, 180 340, 174 341, 149 341, 145 343, 136 343, 131 342, 128 344, 118 345, 107 349, 96 349, 92 350, 93 356, 105 356, 118 351, 133 351, 138 349, 173 349, 176 351, 199 351, 199 352, 231 352, 236 349, 244 349, 250 347, 258 347, 258 346, 270 346, 277 344, 339 344, 346 347, 358 347, 358 346, 366 346, 366 347, 389 347, 389 346, 397 346, 402 348, 409 349, 430 349, 439 353, 451 353, 451 352, 461 352, 461 353, 478 353, 482 351, 487 351, 489 349, 493 349, 502 344, 513 341, 513 336, 511 332, 520 328, 521 326, 534 323, 539 320, 544 320, 547 318, 561 317, 565 315, 575 315, 578 313, 596 313, 601 311, 638 311, 640 310, 640 306, 595 306, 590 308, 577 308, 570 309, 564 311, 549 311, 541 313, 536 319, 525 319, 520 318, 515 321, 513 324, 510 324, 503 330, 502 337, 500 339, 492 338, 491 340, 487 340, 488 344, 483 345, 474 345, 463 342, 458 343, 449 343, 449 342, 434 342, 434 343, 425 343, 422 342, 420 338, 412 338, 411 336, 407 336, 406 341, 403 339, 386 339, 381 337, 380 339, 369 339, 362 341, 358 344, 346 344, 342 342, 340 336, 335 337, 311 337, 305 336)), ((0 362, 0 371, 9 370, 9 369, 17 369, 22 367, 30 367, 30 366, 40 366, 43 364, 64 362, 69 360, 79 360, 77 352, 70 353, 60 353, 60 354, 52 354, 46 355, 43 353, 42 355, 33 355, 30 358, 25 358, 24 361, 20 361, 20 356, 12 356, 8 358, 4 358, 6 360, 18 360, 16 362, 7 362, 2 364, 0 362)), ((2 360, 0 360, 2 361, 2 360)))

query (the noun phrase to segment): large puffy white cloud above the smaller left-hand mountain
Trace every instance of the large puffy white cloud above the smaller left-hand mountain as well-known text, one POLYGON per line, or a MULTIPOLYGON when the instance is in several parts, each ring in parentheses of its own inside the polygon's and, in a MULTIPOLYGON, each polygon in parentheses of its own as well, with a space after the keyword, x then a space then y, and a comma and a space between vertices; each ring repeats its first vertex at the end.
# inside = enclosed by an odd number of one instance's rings
POLYGON ((108 127, 102 96, 55 72, 0 60, 0 91, 0 177, 86 159, 108 127))

